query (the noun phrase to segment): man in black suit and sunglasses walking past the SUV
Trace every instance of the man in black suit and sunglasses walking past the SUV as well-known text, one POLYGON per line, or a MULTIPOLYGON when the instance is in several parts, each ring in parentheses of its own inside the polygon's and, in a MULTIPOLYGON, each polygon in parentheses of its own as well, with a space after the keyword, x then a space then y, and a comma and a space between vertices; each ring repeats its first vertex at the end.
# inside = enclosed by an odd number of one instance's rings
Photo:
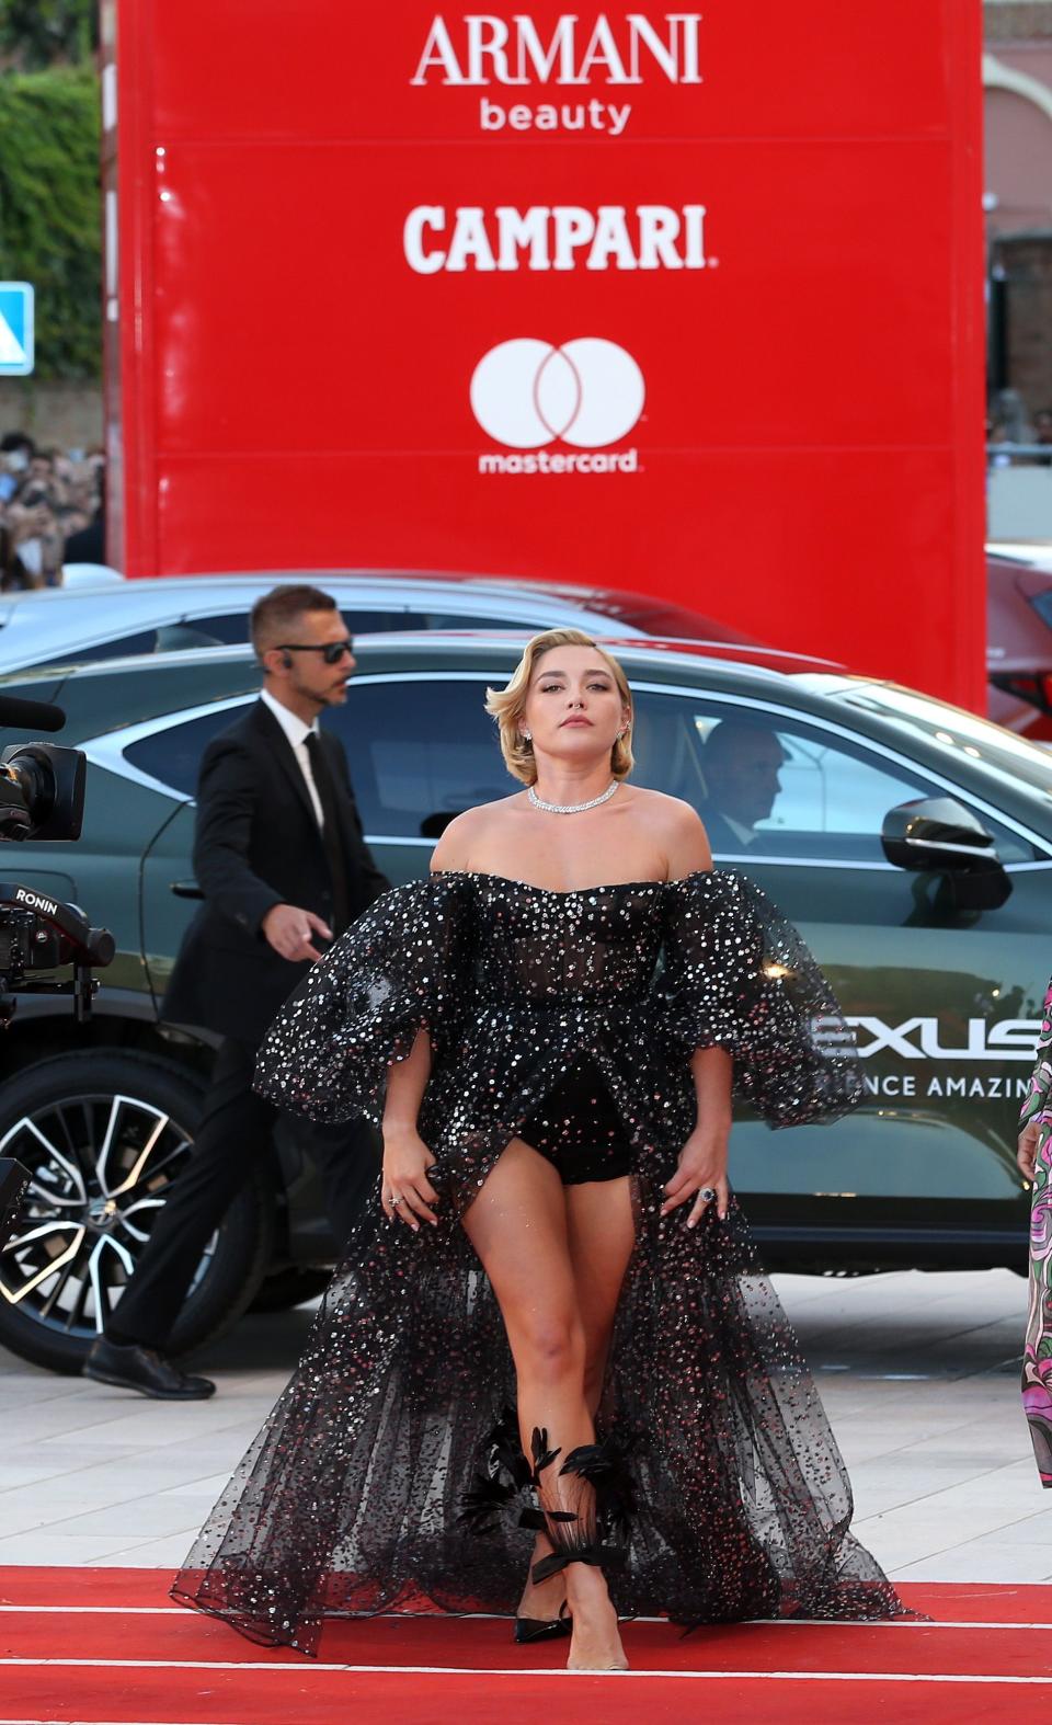
MULTIPOLYGON (((252 611, 259 702, 209 743, 193 868, 204 906, 186 930, 162 1018, 222 1037, 188 1168, 85 1363, 85 1375, 172 1401, 210 1396, 166 1358, 200 1254, 269 1140, 276 1109, 252 1088, 255 1056, 288 994, 388 881, 362 835, 347 759, 319 714, 347 699, 355 661, 335 599, 278 586, 252 611)), ((378 1173, 367 1126, 291 1118, 343 1242, 378 1173)))

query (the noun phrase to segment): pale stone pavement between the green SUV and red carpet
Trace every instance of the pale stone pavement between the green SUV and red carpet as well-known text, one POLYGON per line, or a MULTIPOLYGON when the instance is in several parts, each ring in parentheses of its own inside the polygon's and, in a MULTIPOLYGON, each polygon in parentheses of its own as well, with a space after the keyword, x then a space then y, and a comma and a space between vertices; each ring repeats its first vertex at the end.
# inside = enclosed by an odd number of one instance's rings
MULTIPOLYGON (((897 1580, 1052 1580, 1019 1402, 1024 1283, 1007 1270, 780 1276, 855 1489, 897 1580)), ((259 1430, 309 1311, 241 1320, 195 1370, 209 1402, 152 1402, 0 1351, 0 1565, 174 1568, 259 1430)))

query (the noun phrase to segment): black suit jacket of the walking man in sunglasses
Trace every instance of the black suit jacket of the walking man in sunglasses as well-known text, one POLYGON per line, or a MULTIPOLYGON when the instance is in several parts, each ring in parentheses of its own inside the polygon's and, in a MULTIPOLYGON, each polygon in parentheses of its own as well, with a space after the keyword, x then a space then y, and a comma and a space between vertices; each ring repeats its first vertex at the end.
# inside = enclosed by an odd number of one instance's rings
MULTIPOLYGON (((369 854, 340 742, 322 731, 321 747, 340 804, 354 918, 390 881, 369 854)), ((297 904, 333 926, 333 887, 310 794, 291 743, 262 700, 205 749, 193 871, 205 902, 183 938, 160 1016, 262 1042, 310 969, 274 952, 260 932, 264 916, 274 904, 297 904)))

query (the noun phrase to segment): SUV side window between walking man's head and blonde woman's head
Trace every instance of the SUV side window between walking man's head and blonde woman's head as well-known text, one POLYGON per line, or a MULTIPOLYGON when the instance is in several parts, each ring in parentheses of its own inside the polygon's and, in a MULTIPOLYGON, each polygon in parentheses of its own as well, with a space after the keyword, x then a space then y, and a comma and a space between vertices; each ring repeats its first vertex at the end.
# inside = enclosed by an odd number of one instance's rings
POLYGON ((438 838, 454 814, 507 797, 497 726, 483 709, 485 678, 350 683, 324 716, 347 749, 366 831, 438 838))

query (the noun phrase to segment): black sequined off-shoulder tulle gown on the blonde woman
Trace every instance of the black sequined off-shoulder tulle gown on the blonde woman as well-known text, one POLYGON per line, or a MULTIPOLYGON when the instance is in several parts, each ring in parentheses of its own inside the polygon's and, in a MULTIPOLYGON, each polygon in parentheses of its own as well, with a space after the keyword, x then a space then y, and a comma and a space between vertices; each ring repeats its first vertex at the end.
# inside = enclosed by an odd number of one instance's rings
POLYGON ((631 1144, 636 1214, 597 1420, 628 1447, 636 1497, 617 1609, 897 1615, 848 1532, 843 1463, 742 1211, 709 1208, 697 1230, 686 1208, 659 1216, 695 1125, 695 1049, 728 1049, 738 1095, 774 1126, 859 1099, 854 1063, 819 1049, 838 1045, 838 1007, 797 933, 731 871, 564 894, 433 875, 335 944, 272 1026, 259 1085, 314 1118, 378 1120, 421 1025, 440 1226, 412 1233, 379 1204, 362 1220, 176 1599, 305 1653, 326 1613, 514 1611, 533 1532, 488 1447, 514 1373, 459 1216, 585 1057, 631 1144), (507 1497, 486 1534, 464 1520, 479 1473, 507 1497))

